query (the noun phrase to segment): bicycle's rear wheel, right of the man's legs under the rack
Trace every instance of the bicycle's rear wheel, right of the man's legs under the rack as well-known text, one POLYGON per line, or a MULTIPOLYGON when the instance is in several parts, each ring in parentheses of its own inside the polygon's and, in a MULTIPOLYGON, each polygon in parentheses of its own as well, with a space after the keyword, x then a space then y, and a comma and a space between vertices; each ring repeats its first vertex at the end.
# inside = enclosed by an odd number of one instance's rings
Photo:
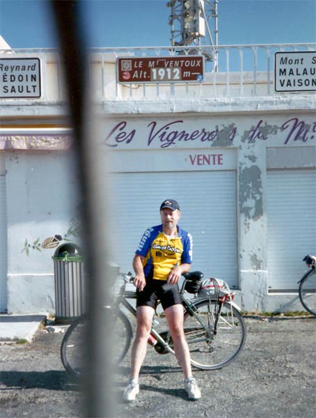
POLYGON ((227 366, 239 355, 246 339, 244 320, 230 303, 225 303, 215 330, 217 301, 194 303, 196 316, 184 314, 184 334, 189 345, 191 364, 202 370, 227 366))

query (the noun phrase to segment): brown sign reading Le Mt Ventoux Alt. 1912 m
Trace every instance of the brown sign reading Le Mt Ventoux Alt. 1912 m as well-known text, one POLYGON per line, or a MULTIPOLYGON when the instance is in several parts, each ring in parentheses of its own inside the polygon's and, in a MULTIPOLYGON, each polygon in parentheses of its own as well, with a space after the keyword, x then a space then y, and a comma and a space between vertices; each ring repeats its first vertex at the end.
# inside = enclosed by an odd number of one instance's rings
POLYGON ((201 83, 204 79, 204 56, 153 56, 118 58, 117 82, 120 84, 201 83))

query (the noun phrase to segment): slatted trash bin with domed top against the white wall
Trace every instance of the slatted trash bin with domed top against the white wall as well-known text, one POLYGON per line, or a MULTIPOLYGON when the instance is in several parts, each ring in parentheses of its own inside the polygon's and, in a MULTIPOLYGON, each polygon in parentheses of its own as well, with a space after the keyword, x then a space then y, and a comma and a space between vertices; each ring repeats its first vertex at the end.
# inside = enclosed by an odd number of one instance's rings
POLYGON ((78 245, 60 245, 52 257, 55 277, 56 319, 76 318, 86 311, 84 258, 78 245))

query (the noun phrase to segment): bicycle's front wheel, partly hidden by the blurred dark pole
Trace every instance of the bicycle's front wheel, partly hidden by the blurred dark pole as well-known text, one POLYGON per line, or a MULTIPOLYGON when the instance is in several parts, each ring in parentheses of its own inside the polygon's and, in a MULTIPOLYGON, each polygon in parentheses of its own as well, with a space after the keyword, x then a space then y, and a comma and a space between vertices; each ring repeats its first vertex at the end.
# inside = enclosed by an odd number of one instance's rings
MULTIPOLYGON (((118 365, 127 354, 132 341, 132 326, 122 311, 118 311, 118 314, 113 316, 112 325, 111 359, 113 364, 118 365)), ((70 325, 61 343, 61 362, 73 378, 85 374, 84 350, 87 344, 88 326, 88 315, 80 316, 70 325)))

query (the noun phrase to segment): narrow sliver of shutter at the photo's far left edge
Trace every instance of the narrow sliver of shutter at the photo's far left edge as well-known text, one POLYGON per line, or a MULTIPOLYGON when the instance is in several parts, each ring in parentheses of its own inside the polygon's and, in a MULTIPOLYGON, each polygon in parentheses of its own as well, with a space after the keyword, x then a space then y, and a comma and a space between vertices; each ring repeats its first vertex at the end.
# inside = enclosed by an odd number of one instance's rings
POLYGON ((0 312, 7 308, 6 177, 0 176, 0 312))

